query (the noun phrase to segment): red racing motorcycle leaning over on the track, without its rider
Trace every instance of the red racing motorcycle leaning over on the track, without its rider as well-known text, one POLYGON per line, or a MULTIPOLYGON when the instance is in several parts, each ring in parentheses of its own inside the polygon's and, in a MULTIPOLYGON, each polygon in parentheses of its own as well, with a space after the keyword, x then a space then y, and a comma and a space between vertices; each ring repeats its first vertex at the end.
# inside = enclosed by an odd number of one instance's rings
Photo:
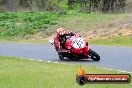
POLYGON ((80 36, 66 36, 65 49, 58 47, 57 39, 50 39, 49 42, 54 45, 58 52, 60 60, 70 59, 88 59, 99 61, 100 56, 95 51, 88 47, 88 42, 85 42, 80 36))

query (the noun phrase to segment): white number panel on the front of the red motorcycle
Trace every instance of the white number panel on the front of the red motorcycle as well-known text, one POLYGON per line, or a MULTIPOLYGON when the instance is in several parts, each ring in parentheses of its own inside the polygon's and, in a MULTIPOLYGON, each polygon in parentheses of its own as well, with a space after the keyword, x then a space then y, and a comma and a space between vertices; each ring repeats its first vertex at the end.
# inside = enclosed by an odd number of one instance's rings
POLYGON ((82 38, 72 38, 72 44, 74 48, 84 48, 85 42, 82 38))

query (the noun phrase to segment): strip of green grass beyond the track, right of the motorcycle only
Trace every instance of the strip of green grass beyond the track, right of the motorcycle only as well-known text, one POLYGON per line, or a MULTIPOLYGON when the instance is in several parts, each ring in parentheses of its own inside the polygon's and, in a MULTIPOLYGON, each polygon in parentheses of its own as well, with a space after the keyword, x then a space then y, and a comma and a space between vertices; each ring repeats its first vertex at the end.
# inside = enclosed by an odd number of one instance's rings
POLYGON ((132 36, 116 36, 112 38, 89 39, 90 44, 108 45, 108 46, 131 46, 132 36))

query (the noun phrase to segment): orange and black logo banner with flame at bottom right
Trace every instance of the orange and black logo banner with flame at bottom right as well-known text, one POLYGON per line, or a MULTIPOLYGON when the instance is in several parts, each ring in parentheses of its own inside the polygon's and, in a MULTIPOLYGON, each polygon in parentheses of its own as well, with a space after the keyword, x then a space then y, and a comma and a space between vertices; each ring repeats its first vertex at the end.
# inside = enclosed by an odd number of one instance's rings
POLYGON ((124 84, 130 83, 131 76, 129 74, 86 74, 85 70, 80 66, 76 81, 79 85, 84 84, 124 84))

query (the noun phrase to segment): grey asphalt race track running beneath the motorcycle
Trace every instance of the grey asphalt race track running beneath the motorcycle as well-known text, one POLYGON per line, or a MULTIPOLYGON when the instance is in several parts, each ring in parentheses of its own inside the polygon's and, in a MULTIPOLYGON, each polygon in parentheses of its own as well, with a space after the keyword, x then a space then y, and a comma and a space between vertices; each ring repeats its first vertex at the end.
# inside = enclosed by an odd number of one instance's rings
POLYGON ((50 44, 0 42, 0 56, 16 56, 68 64, 88 64, 132 72, 132 48, 95 45, 90 45, 90 48, 100 54, 101 60, 99 62, 90 59, 83 61, 60 61, 54 47, 50 44))

